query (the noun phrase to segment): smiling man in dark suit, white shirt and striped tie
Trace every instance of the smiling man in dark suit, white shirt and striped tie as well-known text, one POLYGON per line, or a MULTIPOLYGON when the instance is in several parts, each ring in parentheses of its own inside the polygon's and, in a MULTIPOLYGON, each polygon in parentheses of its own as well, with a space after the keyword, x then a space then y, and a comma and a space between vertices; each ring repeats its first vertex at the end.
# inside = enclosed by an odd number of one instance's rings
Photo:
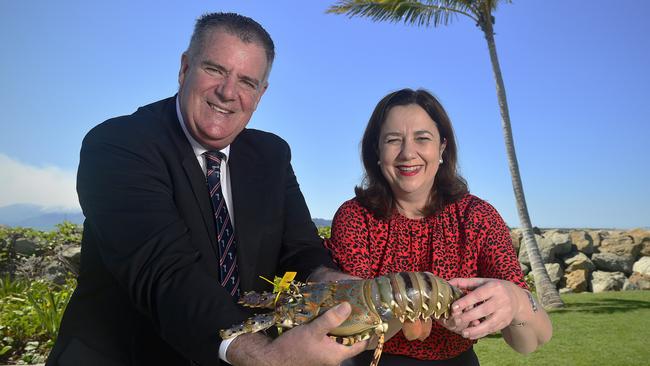
POLYGON ((244 334, 226 347, 218 336, 250 316, 229 291, 268 289, 260 275, 345 276, 323 249, 288 145, 245 128, 273 57, 252 19, 204 15, 181 58, 177 96, 88 133, 77 176, 81 269, 48 366, 338 365, 365 346, 326 337, 347 304, 274 340, 244 334), (216 165, 208 153, 218 154, 216 165), (223 218, 215 191, 234 222, 226 229, 215 222, 223 218), (217 240, 231 228, 236 249, 227 249, 234 262, 224 274, 217 240))

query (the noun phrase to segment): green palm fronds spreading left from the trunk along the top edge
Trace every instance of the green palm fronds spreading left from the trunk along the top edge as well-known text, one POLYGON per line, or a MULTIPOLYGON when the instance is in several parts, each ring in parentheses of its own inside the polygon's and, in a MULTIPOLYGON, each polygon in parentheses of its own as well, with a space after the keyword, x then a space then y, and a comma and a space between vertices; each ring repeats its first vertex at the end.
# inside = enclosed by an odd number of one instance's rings
POLYGON ((478 18, 477 0, 342 0, 327 9, 327 13, 349 17, 367 17, 373 21, 404 22, 429 26, 447 25, 458 15, 474 21, 478 18))

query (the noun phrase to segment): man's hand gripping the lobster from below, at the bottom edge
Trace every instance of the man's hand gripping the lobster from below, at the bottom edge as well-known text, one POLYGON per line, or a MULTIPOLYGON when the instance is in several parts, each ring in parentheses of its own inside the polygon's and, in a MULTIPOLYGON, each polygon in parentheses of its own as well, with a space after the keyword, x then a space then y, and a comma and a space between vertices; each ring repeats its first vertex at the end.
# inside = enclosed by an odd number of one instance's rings
POLYGON ((228 360, 233 365, 265 366, 336 366, 363 351, 367 341, 343 346, 327 333, 350 315, 350 304, 342 303, 312 322, 284 332, 271 341, 261 334, 237 337, 228 348, 228 360))

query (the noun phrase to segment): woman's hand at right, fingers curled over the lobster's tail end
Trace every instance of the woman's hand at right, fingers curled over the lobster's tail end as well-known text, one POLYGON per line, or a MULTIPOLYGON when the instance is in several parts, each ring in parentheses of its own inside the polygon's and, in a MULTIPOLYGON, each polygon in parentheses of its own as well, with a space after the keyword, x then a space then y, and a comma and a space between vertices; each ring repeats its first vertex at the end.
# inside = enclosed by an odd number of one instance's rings
POLYGON ((464 327, 453 331, 479 339, 507 327, 519 310, 518 291, 512 282, 494 278, 454 278, 449 284, 469 293, 452 304, 448 322, 464 327))

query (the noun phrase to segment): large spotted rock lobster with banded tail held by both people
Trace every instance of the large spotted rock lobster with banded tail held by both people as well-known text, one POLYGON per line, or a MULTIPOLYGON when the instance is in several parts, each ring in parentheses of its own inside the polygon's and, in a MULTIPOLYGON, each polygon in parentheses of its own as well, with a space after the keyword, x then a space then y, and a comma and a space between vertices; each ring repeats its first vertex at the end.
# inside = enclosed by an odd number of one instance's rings
POLYGON ((447 318, 451 304, 463 293, 447 281, 429 272, 399 272, 368 280, 341 280, 336 282, 291 282, 278 294, 247 292, 239 303, 253 308, 274 311, 258 314, 241 324, 220 331, 228 339, 244 333, 265 330, 273 325, 292 328, 305 324, 328 309, 347 301, 352 312, 329 335, 342 344, 350 345, 379 337, 371 366, 379 363, 384 334, 389 322, 418 318, 447 318))

